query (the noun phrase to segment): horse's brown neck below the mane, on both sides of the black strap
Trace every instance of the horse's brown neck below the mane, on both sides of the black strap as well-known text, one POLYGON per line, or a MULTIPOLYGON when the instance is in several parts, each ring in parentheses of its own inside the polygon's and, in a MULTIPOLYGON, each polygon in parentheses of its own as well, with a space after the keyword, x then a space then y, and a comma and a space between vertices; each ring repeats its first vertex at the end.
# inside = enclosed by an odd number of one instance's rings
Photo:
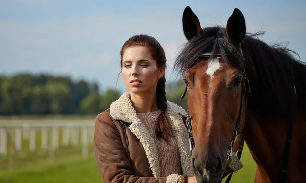
MULTIPOLYGON (((304 109, 297 112, 294 121, 287 178, 289 182, 302 182, 306 172, 306 112, 304 109)), ((257 164, 256 178, 260 178, 261 182, 279 182, 287 139, 286 126, 282 119, 249 111, 242 135, 257 164)))

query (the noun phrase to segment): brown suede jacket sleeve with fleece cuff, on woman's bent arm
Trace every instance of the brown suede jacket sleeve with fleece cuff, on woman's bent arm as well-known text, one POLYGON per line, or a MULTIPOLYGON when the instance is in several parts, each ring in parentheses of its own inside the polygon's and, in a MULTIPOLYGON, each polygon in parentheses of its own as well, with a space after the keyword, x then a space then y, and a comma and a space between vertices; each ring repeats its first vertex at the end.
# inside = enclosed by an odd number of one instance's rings
POLYGON ((94 152, 98 169, 104 183, 176 183, 179 175, 168 177, 137 177, 123 147, 120 133, 109 113, 100 113, 95 119, 94 152))

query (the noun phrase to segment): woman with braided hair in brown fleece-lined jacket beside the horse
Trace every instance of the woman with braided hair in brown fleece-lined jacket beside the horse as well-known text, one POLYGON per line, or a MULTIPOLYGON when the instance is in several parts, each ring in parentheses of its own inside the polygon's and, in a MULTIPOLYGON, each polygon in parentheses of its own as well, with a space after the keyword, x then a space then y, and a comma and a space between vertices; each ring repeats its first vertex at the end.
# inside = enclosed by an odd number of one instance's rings
POLYGON ((136 35, 124 43, 120 54, 130 92, 95 120, 94 150, 102 179, 105 183, 196 182, 186 111, 166 99, 164 49, 155 38, 136 35))

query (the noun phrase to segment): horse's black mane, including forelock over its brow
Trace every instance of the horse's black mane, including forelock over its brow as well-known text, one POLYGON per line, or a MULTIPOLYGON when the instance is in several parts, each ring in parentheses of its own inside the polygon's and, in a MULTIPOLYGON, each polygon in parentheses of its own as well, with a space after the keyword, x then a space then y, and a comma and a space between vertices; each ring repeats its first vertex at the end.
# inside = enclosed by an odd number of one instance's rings
POLYGON ((246 70, 251 89, 247 96, 249 108, 291 118, 298 105, 306 107, 306 65, 295 59, 293 54, 299 55, 286 45, 269 46, 256 38, 263 34, 247 33, 241 43, 242 55, 226 36, 224 27, 204 28, 183 45, 174 70, 183 74, 200 61, 200 54, 221 53, 226 63, 246 70))

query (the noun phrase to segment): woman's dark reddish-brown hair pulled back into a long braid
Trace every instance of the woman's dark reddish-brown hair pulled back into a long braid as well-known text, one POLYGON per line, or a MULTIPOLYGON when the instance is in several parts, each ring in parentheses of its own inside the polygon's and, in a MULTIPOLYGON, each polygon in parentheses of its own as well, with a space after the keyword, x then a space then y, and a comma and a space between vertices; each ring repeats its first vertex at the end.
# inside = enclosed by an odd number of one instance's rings
MULTIPOLYGON (((156 60, 157 67, 160 68, 164 66, 166 68, 167 59, 163 47, 154 37, 145 34, 132 36, 124 43, 120 51, 121 68, 122 68, 122 56, 124 54, 124 51, 126 50, 126 48, 135 47, 135 46, 147 47, 151 53, 152 58, 156 60)), ((168 142, 169 136, 172 136, 172 134, 170 132, 170 125, 165 115, 167 109, 165 83, 166 83, 166 77, 164 75, 158 80, 156 86, 157 107, 161 110, 161 114, 157 118, 156 135, 159 140, 163 138, 166 142, 168 142)))

